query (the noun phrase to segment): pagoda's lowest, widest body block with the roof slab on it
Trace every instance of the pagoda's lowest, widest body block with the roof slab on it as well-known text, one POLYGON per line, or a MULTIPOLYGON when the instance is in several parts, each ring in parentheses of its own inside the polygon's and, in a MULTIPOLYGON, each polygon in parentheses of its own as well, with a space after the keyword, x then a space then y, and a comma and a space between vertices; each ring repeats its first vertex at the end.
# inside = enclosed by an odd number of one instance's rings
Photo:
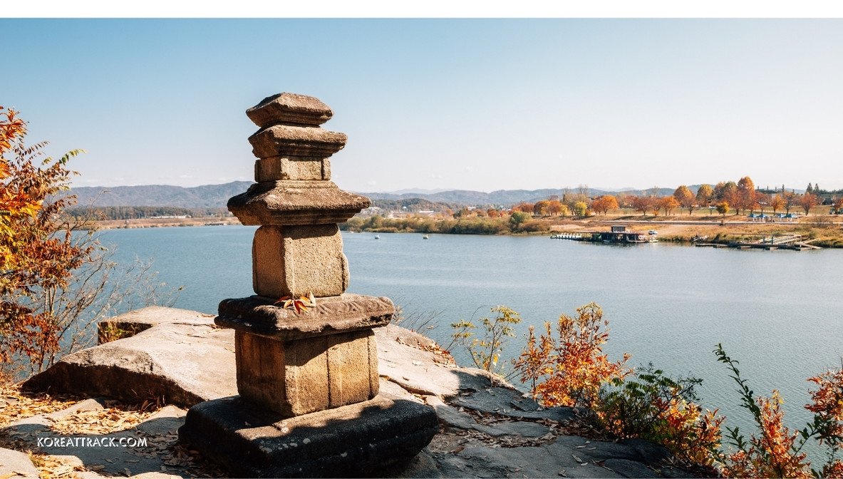
POLYGON ((293 417, 378 395, 372 328, 394 313, 388 298, 357 294, 318 300, 302 313, 253 296, 223 300, 215 321, 237 331, 240 396, 293 417))

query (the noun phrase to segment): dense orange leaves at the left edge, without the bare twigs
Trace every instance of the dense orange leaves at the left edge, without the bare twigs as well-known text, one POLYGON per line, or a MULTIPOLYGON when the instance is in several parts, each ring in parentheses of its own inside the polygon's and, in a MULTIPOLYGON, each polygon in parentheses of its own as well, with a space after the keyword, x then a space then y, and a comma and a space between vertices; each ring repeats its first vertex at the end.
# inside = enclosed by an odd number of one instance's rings
POLYGON ((36 369, 55 356, 61 321, 51 308, 55 292, 67 288, 94 245, 79 245, 60 213, 72 197, 56 197, 68 187, 72 151, 53 160, 40 157, 46 143, 27 148, 26 128, 13 110, 0 121, 3 192, 0 194, 0 364, 15 355, 30 358, 36 369))

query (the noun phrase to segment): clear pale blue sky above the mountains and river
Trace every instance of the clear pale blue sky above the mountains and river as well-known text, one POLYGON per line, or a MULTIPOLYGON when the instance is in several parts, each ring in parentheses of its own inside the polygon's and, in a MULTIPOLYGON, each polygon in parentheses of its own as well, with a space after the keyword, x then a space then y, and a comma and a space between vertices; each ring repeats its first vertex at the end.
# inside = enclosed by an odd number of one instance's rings
POLYGON ((843 20, 0 19, 0 105, 78 186, 250 180, 312 94, 352 191, 843 187, 843 20))

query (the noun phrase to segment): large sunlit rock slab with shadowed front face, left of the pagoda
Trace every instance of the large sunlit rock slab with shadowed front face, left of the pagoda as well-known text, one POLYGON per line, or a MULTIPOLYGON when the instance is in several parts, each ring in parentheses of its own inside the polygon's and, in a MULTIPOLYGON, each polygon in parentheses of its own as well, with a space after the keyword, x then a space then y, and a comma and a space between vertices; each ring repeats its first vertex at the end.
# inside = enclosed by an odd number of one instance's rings
MULTIPOLYGON (((142 309, 132 324, 153 326, 135 336, 83 349, 27 380, 24 390, 155 400, 192 406, 237 394, 234 331, 184 309, 142 309)), ((115 323, 120 323, 120 317, 115 323)), ((125 321, 124 321, 125 322, 125 321)))

